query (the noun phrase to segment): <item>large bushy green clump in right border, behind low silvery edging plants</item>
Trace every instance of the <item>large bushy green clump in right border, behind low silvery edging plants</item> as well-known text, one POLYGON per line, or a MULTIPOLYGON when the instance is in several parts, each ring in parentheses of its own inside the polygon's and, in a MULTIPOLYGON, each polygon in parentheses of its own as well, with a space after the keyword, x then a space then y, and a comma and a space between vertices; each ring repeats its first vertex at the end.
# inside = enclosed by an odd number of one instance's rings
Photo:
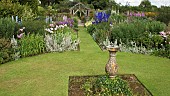
MULTIPOLYGON (((131 23, 120 23, 112 27, 112 39, 135 41, 138 45, 143 44, 147 48, 158 47, 162 43, 158 34, 165 30, 165 24, 159 21, 134 20, 131 23)), ((118 42, 120 43, 120 42, 118 42)))

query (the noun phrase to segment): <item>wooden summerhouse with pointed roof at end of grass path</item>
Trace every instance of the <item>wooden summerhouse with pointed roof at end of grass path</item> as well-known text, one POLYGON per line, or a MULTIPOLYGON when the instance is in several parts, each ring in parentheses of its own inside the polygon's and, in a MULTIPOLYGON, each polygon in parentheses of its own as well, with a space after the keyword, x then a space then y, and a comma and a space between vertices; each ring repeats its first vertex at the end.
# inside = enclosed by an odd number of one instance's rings
POLYGON ((90 8, 79 2, 70 8, 70 14, 75 15, 77 12, 80 12, 80 17, 82 16, 82 13, 84 13, 85 16, 89 16, 90 8))

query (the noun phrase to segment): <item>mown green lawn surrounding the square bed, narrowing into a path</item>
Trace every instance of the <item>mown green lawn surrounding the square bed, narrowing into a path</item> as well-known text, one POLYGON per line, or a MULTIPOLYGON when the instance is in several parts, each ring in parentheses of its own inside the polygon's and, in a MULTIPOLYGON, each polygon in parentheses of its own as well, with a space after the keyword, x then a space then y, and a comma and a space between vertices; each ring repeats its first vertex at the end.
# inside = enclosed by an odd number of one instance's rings
MULTIPOLYGON (((67 96, 74 75, 105 74, 108 52, 84 28, 80 51, 48 53, 0 65, 0 96, 67 96)), ((119 74, 135 74, 154 96, 170 96, 170 59, 118 52, 119 74)))

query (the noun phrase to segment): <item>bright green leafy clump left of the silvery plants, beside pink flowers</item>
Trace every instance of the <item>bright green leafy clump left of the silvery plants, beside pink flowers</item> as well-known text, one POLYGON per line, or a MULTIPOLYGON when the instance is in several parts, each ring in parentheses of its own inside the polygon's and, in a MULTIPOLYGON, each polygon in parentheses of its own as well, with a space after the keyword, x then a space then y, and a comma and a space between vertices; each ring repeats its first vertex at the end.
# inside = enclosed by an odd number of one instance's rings
POLYGON ((33 56, 45 52, 45 42, 41 35, 30 34, 20 39, 21 57, 33 56))

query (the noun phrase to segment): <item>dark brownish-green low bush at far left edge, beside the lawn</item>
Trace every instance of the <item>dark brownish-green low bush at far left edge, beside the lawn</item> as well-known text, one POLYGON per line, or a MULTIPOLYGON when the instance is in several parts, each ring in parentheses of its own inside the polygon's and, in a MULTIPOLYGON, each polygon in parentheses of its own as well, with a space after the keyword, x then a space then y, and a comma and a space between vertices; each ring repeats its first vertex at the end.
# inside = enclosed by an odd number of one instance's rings
POLYGON ((0 39, 0 64, 14 60, 14 49, 9 39, 0 39))

